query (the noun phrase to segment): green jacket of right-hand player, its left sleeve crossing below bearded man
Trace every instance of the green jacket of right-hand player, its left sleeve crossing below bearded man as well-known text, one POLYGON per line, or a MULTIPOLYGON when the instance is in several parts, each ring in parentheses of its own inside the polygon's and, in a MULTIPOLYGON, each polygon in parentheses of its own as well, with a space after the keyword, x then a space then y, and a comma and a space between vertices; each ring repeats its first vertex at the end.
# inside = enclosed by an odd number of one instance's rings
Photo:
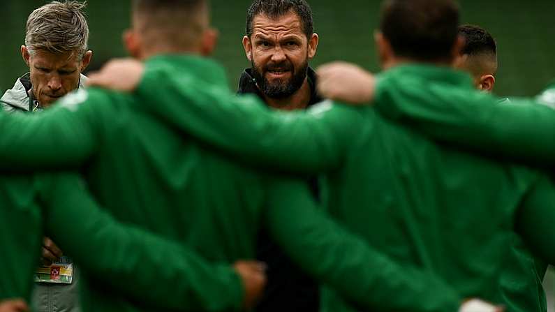
MULTIPOLYGON (((151 112, 243 161, 293 172, 327 172, 332 190, 327 209, 336 220, 394 260, 442 276, 459 295, 503 302, 510 311, 542 309, 531 256, 510 253, 519 211, 552 205, 553 186, 541 174, 434 144, 369 107, 322 103, 308 114, 270 112, 256 98, 232 98, 194 85, 192 79, 167 66, 147 66, 138 94, 149 102, 174 103, 170 114, 156 105, 151 112), (156 96, 149 90, 153 85, 156 96), (546 190, 535 191, 537 184, 546 184, 546 190), (523 202, 536 192, 549 205, 523 202), (518 298, 516 303, 507 299, 522 293, 498 287, 502 273, 508 279, 517 276, 524 285, 518 286, 528 298, 524 305, 518 298)), ((390 83, 382 83, 384 91, 378 94, 377 102, 385 107, 392 101, 413 101, 402 92, 406 85, 427 94, 439 93, 441 82, 448 82, 450 89, 442 90, 445 101, 451 93, 475 94, 468 76, 429 66, 400 66, 381 80, 390 83)), ((549 234, 549 228, 530 223, 519 234, 529 237, 533 230, 549 234)), ((550 247, 526 242, 554 260, 550 247)), ((342 305, 333 292, 325 300, 330 311, 342 305)))

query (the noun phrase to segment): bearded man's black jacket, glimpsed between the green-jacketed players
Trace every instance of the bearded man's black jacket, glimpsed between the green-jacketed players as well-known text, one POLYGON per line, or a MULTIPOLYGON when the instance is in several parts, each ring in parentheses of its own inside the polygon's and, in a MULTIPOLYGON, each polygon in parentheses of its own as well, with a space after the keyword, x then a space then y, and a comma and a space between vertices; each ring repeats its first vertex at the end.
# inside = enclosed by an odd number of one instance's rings
MULTIPOLYGON (((311 99, 308 107, 322 101, 316 93, 316 73, 308 71, 311 87, 311 99)), ((239 80, 237 94, 256 94, 262 101, 264 97, 256 87, 256 80, 251 75, 251 68, 246 69, 239 80)), ((318 178, 308 181, 314 198, 320 198, 318 178)), ((269 237, 265 230, 258 235, 257 259, 266 263, 268 281, 265 293, 256 306, 256 312, 318 312, 320 310, 320 292, 318 283, 304 274, 297 265, 281 251, 281 248, 269 237)))

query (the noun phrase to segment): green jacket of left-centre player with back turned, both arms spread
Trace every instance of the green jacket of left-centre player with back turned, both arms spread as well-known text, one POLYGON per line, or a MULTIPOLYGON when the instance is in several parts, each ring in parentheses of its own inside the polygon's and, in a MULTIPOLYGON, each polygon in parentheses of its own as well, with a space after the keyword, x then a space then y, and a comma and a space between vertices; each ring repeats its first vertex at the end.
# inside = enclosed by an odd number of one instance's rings
MULTIPOLYGON (((195 84, 230 92, 223 68, 207 59, 156 57, 148 64, 177 68, 194 77, 195 84)), ((300 267, 360 306, 380 311, 458 309, 462 297, 434 274, 395 264, 323 216, 302 180, 265 177, 243 168, 149 112, 160 105, 158 109, 172 114, 175 103, 168 104, 90 89, 67 96, 40 115, 0 114, 0 168, 81 168, 92 193, 116 219, 173 239, 211 261, 252 258, 256 233, 265 226, 300 267), (390 300, 407 292, 411 295, 390 300)), ((84 273, 85 311, 153 310, 114 297, 102 279, 84 273)), ((160 283, 155 288, 175 286, 160 283)), ((206 287, 214 300, 207 310, 230 297, 206 287)))

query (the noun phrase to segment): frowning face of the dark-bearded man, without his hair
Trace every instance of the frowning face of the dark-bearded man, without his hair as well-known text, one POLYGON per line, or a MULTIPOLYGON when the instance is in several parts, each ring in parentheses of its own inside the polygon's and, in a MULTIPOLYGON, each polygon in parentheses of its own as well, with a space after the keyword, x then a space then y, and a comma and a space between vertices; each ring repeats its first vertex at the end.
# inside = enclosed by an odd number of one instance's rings
POLYGON ((253 20, 253 34, 243 38, 243 45, 260 91, 269 98, 287 98, 306 80, 318 35, 308 40, 293 12, 277 20, 258 15, 253 20))

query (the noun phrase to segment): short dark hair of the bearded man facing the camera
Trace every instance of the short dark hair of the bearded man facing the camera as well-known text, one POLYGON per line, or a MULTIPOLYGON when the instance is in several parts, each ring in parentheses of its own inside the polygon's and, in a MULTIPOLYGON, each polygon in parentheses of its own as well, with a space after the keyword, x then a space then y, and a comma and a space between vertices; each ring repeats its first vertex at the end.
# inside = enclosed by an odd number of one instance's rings
POLYGON ((252 36, 256 16, 262 14, 277 19, 290 12, 299 16, 302 31, 306 38, 310 38, 314 34, 314 22, 312 9, 305 0, 254 0, 246 12, 246 36, 252 36))

